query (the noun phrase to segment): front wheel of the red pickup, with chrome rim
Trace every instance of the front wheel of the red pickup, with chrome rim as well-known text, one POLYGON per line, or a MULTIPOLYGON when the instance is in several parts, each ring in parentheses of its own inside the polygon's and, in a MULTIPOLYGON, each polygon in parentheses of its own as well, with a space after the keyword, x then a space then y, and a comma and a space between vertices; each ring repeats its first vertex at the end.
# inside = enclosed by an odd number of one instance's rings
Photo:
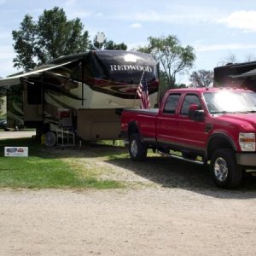
POLYGON ((241 183, 242 170, 236 163, 236 156, 232 149, 222 148, 212 154, 212 179, 218 187, 234 189, 241 183))

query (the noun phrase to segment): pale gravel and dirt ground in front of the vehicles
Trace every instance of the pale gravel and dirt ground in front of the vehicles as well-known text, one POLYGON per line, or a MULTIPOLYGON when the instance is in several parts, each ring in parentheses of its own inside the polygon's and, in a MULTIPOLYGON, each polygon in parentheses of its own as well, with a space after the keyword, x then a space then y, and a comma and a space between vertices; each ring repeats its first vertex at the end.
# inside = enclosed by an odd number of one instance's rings
POLYGON ((102 161, 93 157, 100 149, 77 157, 105 166, 102 178, 131 185, 1 189, 0 255, 256 254, 255 177, 241 189, 218 189, 201 166, 160 157, 102 161))

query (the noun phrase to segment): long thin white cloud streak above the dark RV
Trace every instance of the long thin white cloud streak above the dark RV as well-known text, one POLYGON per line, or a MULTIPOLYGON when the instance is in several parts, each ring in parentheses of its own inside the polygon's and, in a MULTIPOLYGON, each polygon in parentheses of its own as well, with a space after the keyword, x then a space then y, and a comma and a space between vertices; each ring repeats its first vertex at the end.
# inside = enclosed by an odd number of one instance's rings
POLYGON ((202 45, 195 44, 195 50, 200 51, 215 51, 215 50, 225 50, 225 49, 256 49, 256 44, 212 44, 212 45, 202 45))

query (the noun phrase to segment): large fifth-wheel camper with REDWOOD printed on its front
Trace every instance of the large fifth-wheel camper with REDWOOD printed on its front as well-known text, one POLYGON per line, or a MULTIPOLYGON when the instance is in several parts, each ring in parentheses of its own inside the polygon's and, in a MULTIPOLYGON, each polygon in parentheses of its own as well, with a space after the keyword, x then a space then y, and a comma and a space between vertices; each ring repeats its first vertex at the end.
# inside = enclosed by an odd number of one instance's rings
POLYGON ((0 86, 7 91, 21 86, 24 125, 39 133, 69 126, 84 140, 118 139, 122 109, 139 108, 137 86, 143 72, 151 105, 157 102, 157 70, 152 55, 96 50, 62 56, 32 72, 0 79, 0 86))

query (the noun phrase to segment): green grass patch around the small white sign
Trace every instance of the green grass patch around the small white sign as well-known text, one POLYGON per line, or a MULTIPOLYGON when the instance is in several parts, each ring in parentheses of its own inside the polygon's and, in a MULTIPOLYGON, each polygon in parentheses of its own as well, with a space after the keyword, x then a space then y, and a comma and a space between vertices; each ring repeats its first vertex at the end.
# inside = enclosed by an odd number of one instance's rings
MULTIPOLYGON (((122 183, 97 178, 97 170, 55 157, 32 139, 0 140, 4 146, 28 146, 29 157, 0 157, 0 188, 116 189, 122 183)), ((68 156, 71 158, 71 156, 68 156)), ((71 158, 72 159, 72 158, 71 158)))

